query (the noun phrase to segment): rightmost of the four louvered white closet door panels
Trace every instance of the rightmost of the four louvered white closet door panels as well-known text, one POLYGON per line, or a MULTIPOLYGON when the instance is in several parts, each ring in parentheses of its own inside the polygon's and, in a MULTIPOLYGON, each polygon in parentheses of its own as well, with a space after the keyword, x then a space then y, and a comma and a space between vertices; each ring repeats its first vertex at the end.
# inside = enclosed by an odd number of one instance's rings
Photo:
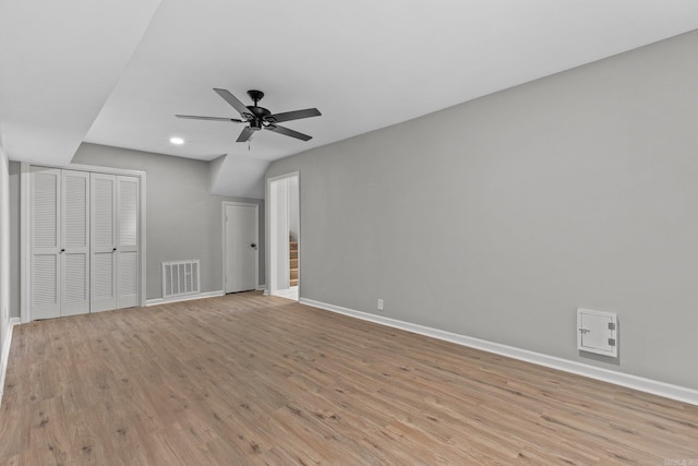
POLYGON ((140 303, 139 190, 136 177, 117 177, 117 302, 119 308, 140 303))

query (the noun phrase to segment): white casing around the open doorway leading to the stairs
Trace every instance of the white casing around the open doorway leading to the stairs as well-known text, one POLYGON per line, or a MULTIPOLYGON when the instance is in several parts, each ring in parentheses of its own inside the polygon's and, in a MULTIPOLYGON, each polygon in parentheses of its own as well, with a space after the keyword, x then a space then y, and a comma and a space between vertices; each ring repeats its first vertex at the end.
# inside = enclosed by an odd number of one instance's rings
POLYGON ((275 200, 272 198, 272 183, 274 181, 279 181, 282 179, 288 179, 288 178, 297 178, 298 179, 298 298, 300 299, 301 297, 301 287, 303 286, 303 280, 302 280, 302 275, 303 275, 303 267, 301 264, 301 241, 302 241, 302 235, 301 235, 301 230, 302 230, 302 222, 301 222, 301 211, 302 211, 302 206, 301 206, 301 174, 300 171, 290 171, 288 174, 282 174, 282 175, 277 175, 274 177, 269 177, 266 179, 266 187, 265 187, 265 238, 266 238, 266 267, 265 267, 265 274, 266 274, 266 290, 264 291, 265 295, 274 295, 277 290, 273 289, 274 288, 274 284, 276 284, 276 279, 274 279, 274 272, 276 271, 276 266, 274 265, 276 262, 276 248, 275 248, 275 241, 273 239, 274 235, 276 234, 276 231, 274 231, 274 226, 276 224, 276 222, 273 219, 273 214, 275 214, 275 200))

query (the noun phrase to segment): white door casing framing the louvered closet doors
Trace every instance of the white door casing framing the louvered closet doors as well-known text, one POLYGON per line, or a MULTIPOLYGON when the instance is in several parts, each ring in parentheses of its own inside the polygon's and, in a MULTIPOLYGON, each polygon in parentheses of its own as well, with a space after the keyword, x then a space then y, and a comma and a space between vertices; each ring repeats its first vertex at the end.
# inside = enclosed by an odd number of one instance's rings
POLYGON ((99 167, 93 165, 52 165, 52 164, 32 164, 22 162, 20 168, 20 319, 22 323, 32 321, 29 300, 32 296, 31 284, 31 229, 29 229, 29 206, 32 205, 32 190, 29 184, 31 167, 56 168, 60 170, 88 171, 107 175, 124 175, 137 177, 139 182, 139 276, 140 276, 140 306, 145 306, 146 295, 146 176, 145 171, 128 170, 122 168, 99 167))

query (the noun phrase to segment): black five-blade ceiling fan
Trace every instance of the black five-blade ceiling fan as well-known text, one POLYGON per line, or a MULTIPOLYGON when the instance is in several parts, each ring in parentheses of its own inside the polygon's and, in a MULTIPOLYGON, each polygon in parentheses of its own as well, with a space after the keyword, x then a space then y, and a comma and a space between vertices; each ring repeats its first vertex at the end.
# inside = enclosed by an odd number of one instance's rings
POLYGON ((262 91, 248 91, 248 95, 254 101, 254 105, 245 106, 238 97, 232 95, 230 91, 214 88, 216 94, 222 97, 228 104, 232 106, 242 119, 237 118, 219 118, 219 117, 197 117, 194 115, 176 115, 177 118, 189 118, 192 120, 213 120, 213 121, 232 121, 233 123, 248 123, 238 136, 238 142, 246 142, 252 138, 256 131, 268 130, 277 134, 284 134, 285 136, 291 136, 301 141, 309 141, 313 136, 299 133, 291 129, 280 127, 276 123, 281 121, 300 120, 301 118, 320 117, 322 113, 316 108, 306 108, 304 110, 285 111, 282 113, 272 113, 264 107, 257 106, 257 103, 264 97, 262 91))

